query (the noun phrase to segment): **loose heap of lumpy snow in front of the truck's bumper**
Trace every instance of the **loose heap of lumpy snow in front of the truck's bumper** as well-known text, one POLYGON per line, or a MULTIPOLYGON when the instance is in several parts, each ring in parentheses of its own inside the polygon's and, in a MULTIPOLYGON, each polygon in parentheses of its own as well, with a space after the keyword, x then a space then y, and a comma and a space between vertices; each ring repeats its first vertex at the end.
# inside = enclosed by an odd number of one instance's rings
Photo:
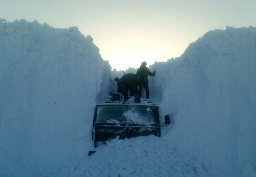
POLYGON ((210 176, 204 167, 156 136, 119 140, 99 146, 61 176, 210 176))

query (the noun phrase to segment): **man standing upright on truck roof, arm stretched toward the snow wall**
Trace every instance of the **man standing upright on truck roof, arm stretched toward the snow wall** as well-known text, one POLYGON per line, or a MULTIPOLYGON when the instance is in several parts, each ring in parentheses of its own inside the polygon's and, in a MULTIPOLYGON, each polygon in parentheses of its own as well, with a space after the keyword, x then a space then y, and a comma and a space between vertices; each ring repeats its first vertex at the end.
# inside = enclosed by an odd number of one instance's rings
POLYGON ((149 98, 149 88, 148 88, 148 76, 155 76, 156 71, 153 73, 148 70, 148 67, 146 66, 147 62, 142 62, 140 68, 137 70, 137 75, 140 79, 140 89, 139 89, 139 97, 141 97, 141 92, 143 90, 143 87, 146 92, 146 99, 149 98))

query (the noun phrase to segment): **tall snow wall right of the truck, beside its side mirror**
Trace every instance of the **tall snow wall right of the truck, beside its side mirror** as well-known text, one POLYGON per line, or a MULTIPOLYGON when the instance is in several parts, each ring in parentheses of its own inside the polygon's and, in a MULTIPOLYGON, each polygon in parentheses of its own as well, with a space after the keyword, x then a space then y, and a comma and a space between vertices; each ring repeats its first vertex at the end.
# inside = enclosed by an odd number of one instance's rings
POLYGON ((210 31, 180 58, 151 68, 151 95, 175 114, 170 143, 213 176, 243 176, 248 164, 255 175, 256 28, 210 31))

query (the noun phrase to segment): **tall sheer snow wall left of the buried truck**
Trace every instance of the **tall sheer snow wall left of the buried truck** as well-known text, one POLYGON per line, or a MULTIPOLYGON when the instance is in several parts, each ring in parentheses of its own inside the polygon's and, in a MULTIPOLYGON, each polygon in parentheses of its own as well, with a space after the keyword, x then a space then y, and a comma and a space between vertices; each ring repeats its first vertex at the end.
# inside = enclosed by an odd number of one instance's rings
POLYGON ((77 27, 0 23, 0 174, 34 176, 87 153, 110 65, 77 27))

